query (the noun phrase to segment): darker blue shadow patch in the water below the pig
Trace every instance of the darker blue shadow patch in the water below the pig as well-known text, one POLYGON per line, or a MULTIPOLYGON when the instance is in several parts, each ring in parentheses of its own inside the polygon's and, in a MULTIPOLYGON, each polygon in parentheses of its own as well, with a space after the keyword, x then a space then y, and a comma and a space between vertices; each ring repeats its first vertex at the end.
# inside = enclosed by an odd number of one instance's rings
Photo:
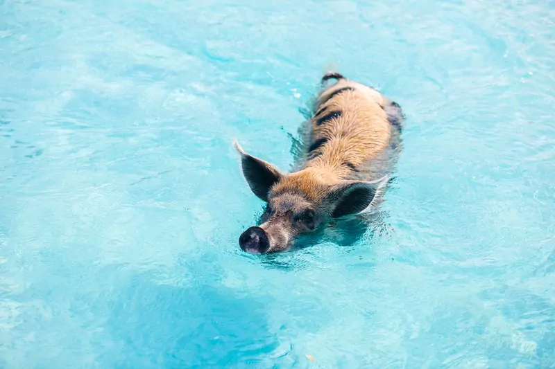
POLYGON ((275 357, 264 304, 222 285, 157 285, 142 274, 124 285, 106 326, 123 345, 106 368, 237 368, 275 357))

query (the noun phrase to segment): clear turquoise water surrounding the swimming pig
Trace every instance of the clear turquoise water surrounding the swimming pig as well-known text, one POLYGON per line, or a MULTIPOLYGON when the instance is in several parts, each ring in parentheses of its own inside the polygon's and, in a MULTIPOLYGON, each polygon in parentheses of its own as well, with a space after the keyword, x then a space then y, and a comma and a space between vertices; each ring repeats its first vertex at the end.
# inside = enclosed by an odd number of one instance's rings
POLYGON ((0 367, 555 368, 554 19, 0 0, 0 367), (327 66, 407 114, 387 231, 242 253, 327 66))

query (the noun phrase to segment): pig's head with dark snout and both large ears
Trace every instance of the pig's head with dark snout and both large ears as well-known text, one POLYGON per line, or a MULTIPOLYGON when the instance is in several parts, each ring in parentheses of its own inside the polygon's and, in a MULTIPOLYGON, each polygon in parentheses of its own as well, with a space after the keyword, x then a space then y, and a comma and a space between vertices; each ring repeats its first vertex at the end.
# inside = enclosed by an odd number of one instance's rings
POLYGON ((285 251, 296 237, 318 231, 331 219, 360 213, 386 182, 386 177, 371 182, 340 180, 321 168, 282 174, 271 163, 244 152, 237 141, 234 145, 250 190, 266 202, 259 225, 239 237, 241 249, 250 253, 285 251))

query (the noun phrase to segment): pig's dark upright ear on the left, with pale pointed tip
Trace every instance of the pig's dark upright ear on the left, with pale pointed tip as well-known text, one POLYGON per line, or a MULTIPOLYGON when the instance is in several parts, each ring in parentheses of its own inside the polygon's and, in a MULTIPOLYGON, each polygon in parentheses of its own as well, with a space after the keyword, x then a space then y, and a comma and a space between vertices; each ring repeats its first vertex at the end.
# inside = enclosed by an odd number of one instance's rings
POLYGON ((280 170, 262 159, 247 154, 237 140, 234 141, 233 145, 239 154, 241 154, 241 168, 250 190, 259 199, 268 201, 268 192, 271 187, 282 178, 280 170))

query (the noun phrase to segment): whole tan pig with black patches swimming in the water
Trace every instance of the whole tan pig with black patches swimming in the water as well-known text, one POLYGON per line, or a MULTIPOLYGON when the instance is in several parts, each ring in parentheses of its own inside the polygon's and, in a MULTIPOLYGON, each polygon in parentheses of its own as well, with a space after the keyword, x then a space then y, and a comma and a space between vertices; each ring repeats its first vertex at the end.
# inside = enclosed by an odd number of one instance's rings
POLYGON ((234 142, 248 186, 266 202, 259 226, 239 237, 244 251, 285 251, 299 235, 372 208, 384 190, 400 142, 400 106, 339 73, 321 82, 316 113, 305 123, 308 144, 293 172, 280 172, 234 142), (336 83, 326 87, 328 80, 336 83))

